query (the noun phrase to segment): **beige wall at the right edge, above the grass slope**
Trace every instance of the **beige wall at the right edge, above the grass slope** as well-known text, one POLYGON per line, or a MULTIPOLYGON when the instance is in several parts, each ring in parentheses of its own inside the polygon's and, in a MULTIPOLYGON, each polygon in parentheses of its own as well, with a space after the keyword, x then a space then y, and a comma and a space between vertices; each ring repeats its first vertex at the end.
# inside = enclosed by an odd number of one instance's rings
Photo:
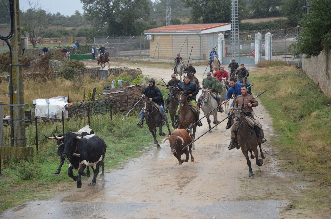
POLYGON ((331 52, 328 58, 322 51, 319 56, 302 60, 302 69, 318 83, 319 88, 331 99, 331 52))

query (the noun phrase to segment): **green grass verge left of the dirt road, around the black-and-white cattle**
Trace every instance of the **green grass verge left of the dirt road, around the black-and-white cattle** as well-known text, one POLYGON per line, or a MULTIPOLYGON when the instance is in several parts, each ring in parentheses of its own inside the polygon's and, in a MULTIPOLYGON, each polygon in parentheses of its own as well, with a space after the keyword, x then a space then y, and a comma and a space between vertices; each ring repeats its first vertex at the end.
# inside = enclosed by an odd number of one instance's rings
MULTIPOLYGON (((98 123, 91 125, 95 133, 100 136, 107 145, 105 155, 105 170, 114 168, 118 164, 126 162, 127 158, 137 157, 143 153, 147 147, 154 146, 153 137, 146 124, 144 128, 138 128, 136 115, 128 116, 123 121, 109 121, 103 118, 104 115, 98 115, 98 123)), ((121 117, 121 116, 119 116, 121 117)), ((107 117, 108 118, 108 117, 107 117)), ((164 137, 158 136, 159 142, 164 137)), ((51 140, 50 140, 51 141, 51 140)), ((54 142, 54 148, 56 143, 54 142)), ((55 149, 54 149, 55 150, 55 149)), ((59 166, 60 157, 55 155, 47 156, 45 154, 35 154, 30 158, 31 163, 37 163, 36 174, 32 180, 21 180, 17 176, 17 169, 4 169, 0 177, 0 213, 10 207, 22 204, 31 200, 49 199, 58 192, 63 192, 76 184, 67 174, 68 160, 66 159, 62 166, 60 174, 54 172, 59 166)), ((91 170, 93 174, 93 171, 91 170)), ((74 175, 78 172, 74 171, 74 175)), ((107 173, 106 173, 107 174, 107 173)), ((85 182, 90 182, 90 178, 82 177, 83 186, 85 182)))

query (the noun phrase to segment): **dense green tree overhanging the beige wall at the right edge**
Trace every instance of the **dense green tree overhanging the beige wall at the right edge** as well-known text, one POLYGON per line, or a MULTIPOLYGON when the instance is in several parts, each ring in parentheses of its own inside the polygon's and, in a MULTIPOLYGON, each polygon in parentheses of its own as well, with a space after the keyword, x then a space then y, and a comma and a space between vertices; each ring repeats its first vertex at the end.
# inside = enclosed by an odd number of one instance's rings
POLYGON ((301 32, 297 43, 289 50, 294 55, 305 54, 306 58, 318 56, 324 49, 331 49, 331 4, 329 0, 310 0, 309 14, 300 21, 301 32))

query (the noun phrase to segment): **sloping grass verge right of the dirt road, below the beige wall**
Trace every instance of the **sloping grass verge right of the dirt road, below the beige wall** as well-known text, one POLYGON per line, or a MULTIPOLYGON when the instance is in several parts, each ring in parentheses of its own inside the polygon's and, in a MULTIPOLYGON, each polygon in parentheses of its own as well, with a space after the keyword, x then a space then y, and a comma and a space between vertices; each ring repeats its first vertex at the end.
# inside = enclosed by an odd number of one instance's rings
POLYGON ((316 200, 325 200, 320 192, 331 188, 330 100, 292 66, 262 68, 250 79, 254 95, 267 90, 259 101, 273 118, 277 134, 273 144, 285 160, 284 167, 303 173, 319 190, 313 194, 316 200))

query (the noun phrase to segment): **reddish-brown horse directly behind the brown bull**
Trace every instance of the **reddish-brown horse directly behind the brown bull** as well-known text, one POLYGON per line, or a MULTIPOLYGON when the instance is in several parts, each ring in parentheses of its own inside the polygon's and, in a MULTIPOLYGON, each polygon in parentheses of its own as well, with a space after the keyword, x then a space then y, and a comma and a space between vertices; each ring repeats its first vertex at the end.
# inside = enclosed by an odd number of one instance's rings
MULTIPOLYGON (((180 113, 178 118, 178 129, 187 129, 193 123, 197 121, 195 118, 195 114, 193 113, 192 109, 188 105, 187 96, 185 91, 180 92, 178 95, 178 103, 180 106, 180 113)), ((197 131, 197 124, 190 128, 190 136, 191 138, 195 139, 195 132, 197 131)), ((193 150, 195 150, 194 143, 193 143, 193 150)))

